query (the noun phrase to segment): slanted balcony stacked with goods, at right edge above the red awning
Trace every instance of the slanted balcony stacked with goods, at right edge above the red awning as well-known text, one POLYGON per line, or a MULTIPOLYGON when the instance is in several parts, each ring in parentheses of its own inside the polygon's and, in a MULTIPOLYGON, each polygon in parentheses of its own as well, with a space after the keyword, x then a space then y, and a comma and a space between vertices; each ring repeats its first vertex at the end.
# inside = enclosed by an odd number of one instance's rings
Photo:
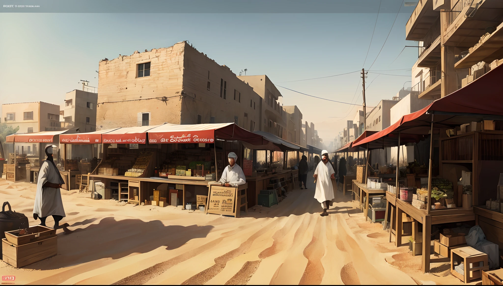
POLYGON ((482 43, 470 48, 470 53, 459 60, 454 68, 470 68, 478 62, 490 63, 503 58, 503 23, 499 24, 482 43))

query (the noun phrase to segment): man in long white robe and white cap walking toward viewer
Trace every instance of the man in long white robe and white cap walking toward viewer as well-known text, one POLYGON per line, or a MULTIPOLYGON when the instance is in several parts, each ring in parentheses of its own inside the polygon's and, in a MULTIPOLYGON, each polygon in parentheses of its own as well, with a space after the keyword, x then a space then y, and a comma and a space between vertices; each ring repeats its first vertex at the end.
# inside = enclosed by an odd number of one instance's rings
POLYGON ((327 216, 326 210, 332 205, 331 200, 334 199, 331 179, 335 179, 335 172, 328 159, 328 151, 321 151, 321 161, 316 166, 313 177, 316 178, 314 198, 321 203, 323 208, 320 216, 327 216))

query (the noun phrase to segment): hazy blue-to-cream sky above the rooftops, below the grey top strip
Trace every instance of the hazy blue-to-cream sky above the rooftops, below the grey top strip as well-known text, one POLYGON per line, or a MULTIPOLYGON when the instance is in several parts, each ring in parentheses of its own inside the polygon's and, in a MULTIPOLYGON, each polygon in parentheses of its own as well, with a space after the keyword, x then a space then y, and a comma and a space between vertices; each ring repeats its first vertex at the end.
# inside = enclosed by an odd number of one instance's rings
POLYGON ((362 68, 370 70, 367 106, 410 86, 417 49, 404 46, 417 46, 405 40, 413 7, 383 0, 386 13, 377 14, 379 1, 372 4, 375 13, 0 13, 0 103, 61 105, 79 80, 98 86, 101 59, 187 40, 236 74, 266 74, 328 143, 359 106, 301 93, 362 104, 362 68))

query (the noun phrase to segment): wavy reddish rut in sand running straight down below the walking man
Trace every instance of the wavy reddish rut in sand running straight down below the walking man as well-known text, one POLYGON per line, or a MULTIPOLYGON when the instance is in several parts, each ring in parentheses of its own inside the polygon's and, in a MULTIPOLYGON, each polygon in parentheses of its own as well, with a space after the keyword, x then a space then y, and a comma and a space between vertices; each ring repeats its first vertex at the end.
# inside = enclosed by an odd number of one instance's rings
POLYGON ((321 258, 325 254, 325 247, 321 235, 322 232, 324 234, 326 221, 328 220, 330 220, 328 217, 317 217, 312 240, 303 251, 304 257, 308 261, 299 285, 319 285, 323 279, 325 269, 321 264, 321 258))

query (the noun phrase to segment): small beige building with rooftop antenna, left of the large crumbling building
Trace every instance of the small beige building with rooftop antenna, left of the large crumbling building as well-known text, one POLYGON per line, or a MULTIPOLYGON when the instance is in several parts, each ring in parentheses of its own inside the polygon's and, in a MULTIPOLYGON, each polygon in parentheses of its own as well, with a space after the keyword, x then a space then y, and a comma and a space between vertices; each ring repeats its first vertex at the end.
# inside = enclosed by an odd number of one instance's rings
POLYGON ((96 131, 96 106, 98 93, 72 90, 65 95, 60 107, 61 127, 78 127, 80 132, 96 131))

